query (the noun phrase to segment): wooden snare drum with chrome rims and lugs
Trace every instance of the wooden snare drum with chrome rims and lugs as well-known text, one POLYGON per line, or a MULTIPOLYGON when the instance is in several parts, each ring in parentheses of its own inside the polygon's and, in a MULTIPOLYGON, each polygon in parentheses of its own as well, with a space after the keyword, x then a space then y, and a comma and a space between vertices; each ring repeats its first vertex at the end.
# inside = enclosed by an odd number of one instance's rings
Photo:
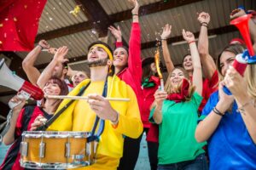
POLYGON ((90 133, 25 131, 20 144, 20 166, 66 169, 90 166, 96 160, 97 142, 90 133))

